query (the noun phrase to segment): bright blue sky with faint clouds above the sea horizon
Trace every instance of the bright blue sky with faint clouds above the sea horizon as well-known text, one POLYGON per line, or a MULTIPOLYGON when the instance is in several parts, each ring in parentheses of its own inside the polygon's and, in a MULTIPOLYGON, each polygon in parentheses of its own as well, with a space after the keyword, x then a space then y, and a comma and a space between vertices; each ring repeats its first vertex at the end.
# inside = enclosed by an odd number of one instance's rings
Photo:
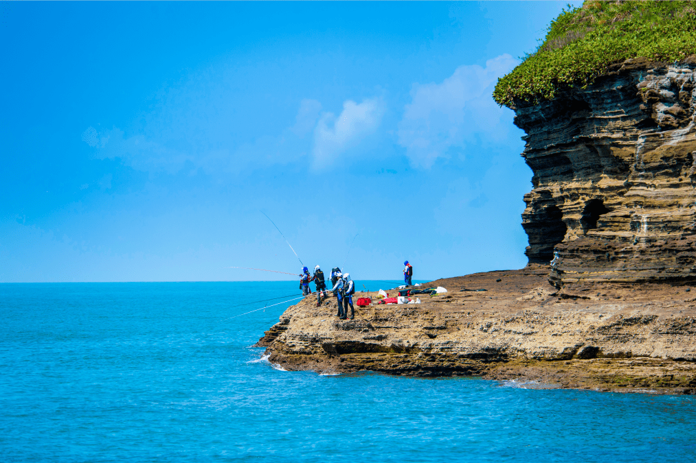
POLYGON ((498 77, 567 2, 3 2, 0 282, 521 268, 498 77), (352 247, 351 247, 352 243, 352 247))

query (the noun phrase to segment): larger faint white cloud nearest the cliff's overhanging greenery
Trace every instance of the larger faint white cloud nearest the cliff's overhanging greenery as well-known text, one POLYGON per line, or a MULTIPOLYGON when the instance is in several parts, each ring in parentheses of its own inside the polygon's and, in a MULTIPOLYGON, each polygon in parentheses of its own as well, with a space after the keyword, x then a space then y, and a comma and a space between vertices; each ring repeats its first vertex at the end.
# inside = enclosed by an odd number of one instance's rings
POLYGON ((442 83, 414 84, 398 131, 411 165, 429 168, 477 136, 505 138, 507 127, 500 124, 505 109, 491 94, 498 78, 516 64, 505 54, 488 60, 486 67, 459 66, 442 83))

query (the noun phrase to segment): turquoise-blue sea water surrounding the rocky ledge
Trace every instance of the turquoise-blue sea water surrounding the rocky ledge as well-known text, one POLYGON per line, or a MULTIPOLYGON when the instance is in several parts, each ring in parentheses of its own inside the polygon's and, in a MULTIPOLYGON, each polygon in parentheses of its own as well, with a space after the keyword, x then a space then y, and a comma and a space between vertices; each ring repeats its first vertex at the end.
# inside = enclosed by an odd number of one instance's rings
POLYGON ((237 315, 296 285, 1 284, 0 461, 696 459, 690 396, 280 371, 253 344, 291 302, 237 315))

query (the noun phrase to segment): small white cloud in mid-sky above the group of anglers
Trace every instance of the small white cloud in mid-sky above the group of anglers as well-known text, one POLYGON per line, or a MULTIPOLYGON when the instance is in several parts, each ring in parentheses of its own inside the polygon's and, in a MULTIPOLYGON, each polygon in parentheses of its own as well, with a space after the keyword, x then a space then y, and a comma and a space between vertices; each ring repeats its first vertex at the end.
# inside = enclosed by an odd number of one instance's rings
POLYGON ((364 99, 360 104, 346 100, 338 117, 323 113, 314 130, 314 167, 330 165, 337 156, 377 131, 383 115, 384 103, 380 98, 364 99))

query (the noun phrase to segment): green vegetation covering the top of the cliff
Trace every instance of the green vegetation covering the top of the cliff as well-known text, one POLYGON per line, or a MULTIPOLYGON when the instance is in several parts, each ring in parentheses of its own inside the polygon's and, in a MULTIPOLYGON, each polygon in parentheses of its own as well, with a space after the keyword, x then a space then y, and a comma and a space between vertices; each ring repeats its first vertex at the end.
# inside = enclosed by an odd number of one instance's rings
POLYGON ((585 1, 563 10, 535 53, 502 79, 500 105, 539 103, 562 88, 585 88, 628 58, 683 60, 696 54, 696 1, 585 1))

